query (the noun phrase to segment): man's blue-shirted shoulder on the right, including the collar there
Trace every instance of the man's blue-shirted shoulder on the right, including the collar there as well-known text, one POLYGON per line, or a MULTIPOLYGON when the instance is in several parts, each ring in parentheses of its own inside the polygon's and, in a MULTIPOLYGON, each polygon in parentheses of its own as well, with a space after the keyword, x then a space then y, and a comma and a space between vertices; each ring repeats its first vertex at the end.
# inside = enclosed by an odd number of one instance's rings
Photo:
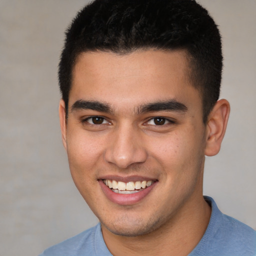
POLYGON ((256 256, 256 231, 223 214, 212 198, 205 197, 205 200, 212 209, 210 221, 203 237, 189 256, 256 256))

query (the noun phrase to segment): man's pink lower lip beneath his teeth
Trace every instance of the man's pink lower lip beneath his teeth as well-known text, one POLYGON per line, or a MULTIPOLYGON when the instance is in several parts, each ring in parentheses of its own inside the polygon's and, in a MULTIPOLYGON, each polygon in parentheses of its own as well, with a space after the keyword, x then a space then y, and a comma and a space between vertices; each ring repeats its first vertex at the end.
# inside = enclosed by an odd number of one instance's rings
POLYGON ((113 192, 109 187, 107 187, 102 179, 98 180, 101 186, 101 189, 105 196, 112 202, 122 205, 129 205, 135 204, 142 200, 155 186, 157 182, 153 182, 150 186, 146 187, 145 189, 132 193, 132 194, 118 194, 113 192))

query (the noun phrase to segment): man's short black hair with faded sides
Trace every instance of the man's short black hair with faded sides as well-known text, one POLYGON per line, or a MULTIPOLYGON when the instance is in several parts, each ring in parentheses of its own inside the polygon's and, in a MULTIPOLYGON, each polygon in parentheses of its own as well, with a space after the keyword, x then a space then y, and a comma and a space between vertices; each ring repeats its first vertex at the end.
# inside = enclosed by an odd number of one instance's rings
POLYGON ((193 86, 201 91, 203 122, 219 97, 222 52, 214 20, 195 0, 94 0, 66 30, 59 62, 59 86, 65 102, 77 56, 86 51, 126 54, 137 49, 187 52, 193 86))

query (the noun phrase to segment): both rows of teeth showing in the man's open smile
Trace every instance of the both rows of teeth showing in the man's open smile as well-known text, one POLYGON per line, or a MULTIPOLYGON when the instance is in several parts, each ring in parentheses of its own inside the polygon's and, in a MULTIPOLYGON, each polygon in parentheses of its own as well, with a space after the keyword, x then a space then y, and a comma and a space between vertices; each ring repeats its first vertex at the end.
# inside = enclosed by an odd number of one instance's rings
POLYGON ((103 183, 109 187, 113 192, 119 194, 132 194, 144 190, 146 187, 150 186, 153 180, 142 180, 142 181, 129 181, 122 182, 110 179, 103 179, 103 183))

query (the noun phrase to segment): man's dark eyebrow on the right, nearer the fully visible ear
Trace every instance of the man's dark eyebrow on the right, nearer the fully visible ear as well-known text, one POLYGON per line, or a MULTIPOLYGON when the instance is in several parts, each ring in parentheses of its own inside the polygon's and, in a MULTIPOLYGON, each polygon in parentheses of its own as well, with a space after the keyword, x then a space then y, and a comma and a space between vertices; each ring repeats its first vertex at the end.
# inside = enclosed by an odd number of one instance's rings
POLYGON ((146 103, 139 106, 137 109, 137 114, 145 113, 145 112, 154 112, 154 111, 186 112, 187 106, 175 99, 170 99, 166 101, 157 101, 152 103, 146 103))

